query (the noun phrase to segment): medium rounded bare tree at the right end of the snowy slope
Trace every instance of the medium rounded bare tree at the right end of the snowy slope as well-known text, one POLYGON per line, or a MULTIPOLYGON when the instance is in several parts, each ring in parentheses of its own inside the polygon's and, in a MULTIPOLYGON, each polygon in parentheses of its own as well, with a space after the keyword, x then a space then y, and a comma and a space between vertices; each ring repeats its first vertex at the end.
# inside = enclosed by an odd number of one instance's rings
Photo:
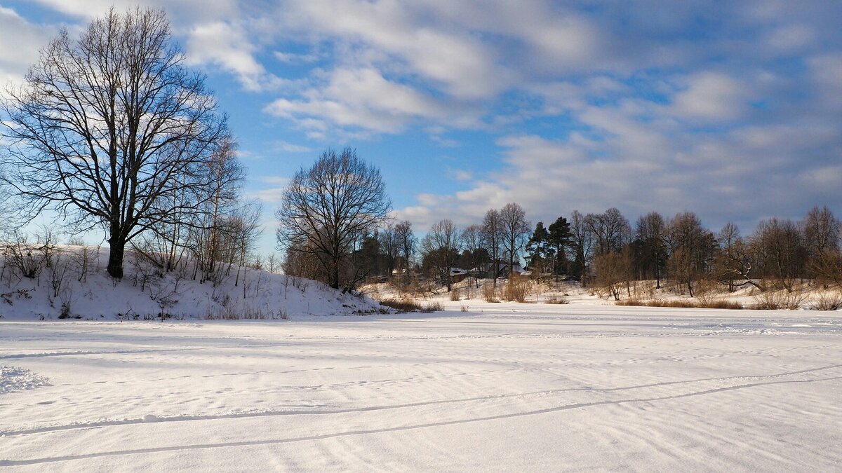
POLYGON ((386 220, 392 207, 380 171, 355 151, 328 150, 310 169, 301 168, 284 189, 277 237, 280 246, 317 256, 331 287, 338 289, 341 263, 354 244, 386 220))

